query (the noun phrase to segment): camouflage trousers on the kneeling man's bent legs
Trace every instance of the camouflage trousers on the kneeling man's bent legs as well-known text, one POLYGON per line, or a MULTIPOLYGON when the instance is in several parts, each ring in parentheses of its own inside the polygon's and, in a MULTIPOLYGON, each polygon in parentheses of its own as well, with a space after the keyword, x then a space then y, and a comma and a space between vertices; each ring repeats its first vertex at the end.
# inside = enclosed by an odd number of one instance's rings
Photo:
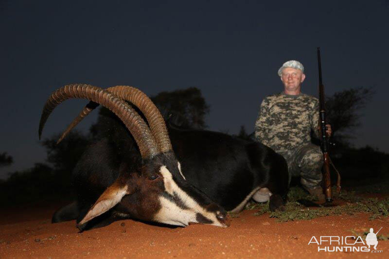
POLYGON ((320 186, 323 178, 323 153, 319 146, 307 144, 280 154, 288 163, 289 183, 292 176, 300 176, 304 188, 313 189, 320 186))

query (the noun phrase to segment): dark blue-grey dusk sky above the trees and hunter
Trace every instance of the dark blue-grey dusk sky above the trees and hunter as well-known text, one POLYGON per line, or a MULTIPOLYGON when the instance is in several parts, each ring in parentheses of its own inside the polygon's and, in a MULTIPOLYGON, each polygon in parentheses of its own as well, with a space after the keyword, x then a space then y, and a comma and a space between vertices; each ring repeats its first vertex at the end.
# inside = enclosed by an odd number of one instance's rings
MULTIPOLYGON (((389 152, 388 1, 0 1, 0 152, 7 172, 43 162, 38 122, 65 84, 131 85, 148 95, 189 86, 211 105, 211 130, 253 131, 259 104, 280 92, 286 60, 305 66, 317 96, 316 47, 326 94, 373 86, 355 145, 389 152)), ((67 101, 43 137, 63 130, 86 101, 67 101)), ((87 130, 97 112, 77 128, 87 130)))

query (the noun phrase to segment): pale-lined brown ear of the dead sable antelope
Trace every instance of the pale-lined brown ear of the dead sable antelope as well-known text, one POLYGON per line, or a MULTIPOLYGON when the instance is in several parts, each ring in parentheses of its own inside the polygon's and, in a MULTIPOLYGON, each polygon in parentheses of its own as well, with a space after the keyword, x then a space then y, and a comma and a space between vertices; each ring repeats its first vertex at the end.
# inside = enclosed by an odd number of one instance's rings
POLYGON ((87 223, 91 219, 103 214, 110 208, 118 204, 124 195, 130 194, 128 184, 125 181, 124 177, 120 175, 118 179, 109 186, 103 194, 97 199, 92 207, 88 210, 87 215, 77 224, 78 227, 81 227, 83 224, 87 223))

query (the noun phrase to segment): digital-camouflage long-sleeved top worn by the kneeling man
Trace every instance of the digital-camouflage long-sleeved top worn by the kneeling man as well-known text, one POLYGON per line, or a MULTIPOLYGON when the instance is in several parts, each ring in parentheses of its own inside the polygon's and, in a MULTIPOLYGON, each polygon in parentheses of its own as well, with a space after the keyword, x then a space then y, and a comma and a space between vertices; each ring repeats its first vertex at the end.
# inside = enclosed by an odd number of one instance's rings
POLYGON ((255 138, 283 153, 318 136, 318 99, 307 94, 273 94, 266 97, 255 122, 255 138))

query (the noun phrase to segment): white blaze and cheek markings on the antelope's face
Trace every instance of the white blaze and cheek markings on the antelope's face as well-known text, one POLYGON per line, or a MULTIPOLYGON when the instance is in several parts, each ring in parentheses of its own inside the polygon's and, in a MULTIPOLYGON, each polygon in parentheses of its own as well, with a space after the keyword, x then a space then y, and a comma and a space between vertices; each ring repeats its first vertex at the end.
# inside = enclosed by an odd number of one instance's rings
MULTIPOLYGON (((175 192, 178 197, 182 200, 182 202, 185 204, 186 207, 189 207, 189 209, 181 209, 179 208, 175 203, 167 200, 164 197, 159 197, 159 200, 161 201, 162 208, 155 216, 155 219, 157 218, 161 220, 168 220, 171 218, 172 221, 175 221, 173 218, 177 218, 181 223, 181 220, 188 220, 189 218, 192 219, 192 221, 195 221, 196 213, 201 213, 204 217, 210 219, 213 221, 213 225, 218 226, 224 226, 219 223, 219 221, 216 219, 216 215, 212 212, 207 211, 205 208, 201 207, 191 196, 189 196, 185 191, 183 191, 181 188, 179 188, 176 184, 176 182, 173 180, 172 173, 169 172, 169 170, 166 168, 166 166, 161 166, 159 169, 159 172, 163 176, 163 183, 165 185, 165 190, 170 194, 173 195, 173 192, 175 192), (174 207, 172 207, 174 205, 174 207), (185 212, 189 213, 189 215, 183 215, 182 213, 185 212)), ((161 222, 161 221, 159 221, 161 222)), ((185 224, 188 224, 189 221, 184 222, 185 224)), ((177 224, 177 223, 176 223, 177 224)))

